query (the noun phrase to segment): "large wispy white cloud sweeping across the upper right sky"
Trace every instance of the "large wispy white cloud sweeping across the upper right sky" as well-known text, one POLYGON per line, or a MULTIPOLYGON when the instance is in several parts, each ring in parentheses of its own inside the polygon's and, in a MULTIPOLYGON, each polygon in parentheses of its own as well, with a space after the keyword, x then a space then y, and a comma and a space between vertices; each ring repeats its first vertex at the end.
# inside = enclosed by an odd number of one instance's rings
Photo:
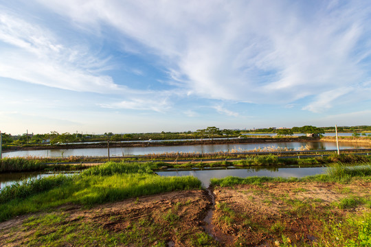
POLYGON ((163 58, 173 85, 201 97, 291 104, 370 76, 363 1, 39 2, 79 25, 116 27, 163 58))

